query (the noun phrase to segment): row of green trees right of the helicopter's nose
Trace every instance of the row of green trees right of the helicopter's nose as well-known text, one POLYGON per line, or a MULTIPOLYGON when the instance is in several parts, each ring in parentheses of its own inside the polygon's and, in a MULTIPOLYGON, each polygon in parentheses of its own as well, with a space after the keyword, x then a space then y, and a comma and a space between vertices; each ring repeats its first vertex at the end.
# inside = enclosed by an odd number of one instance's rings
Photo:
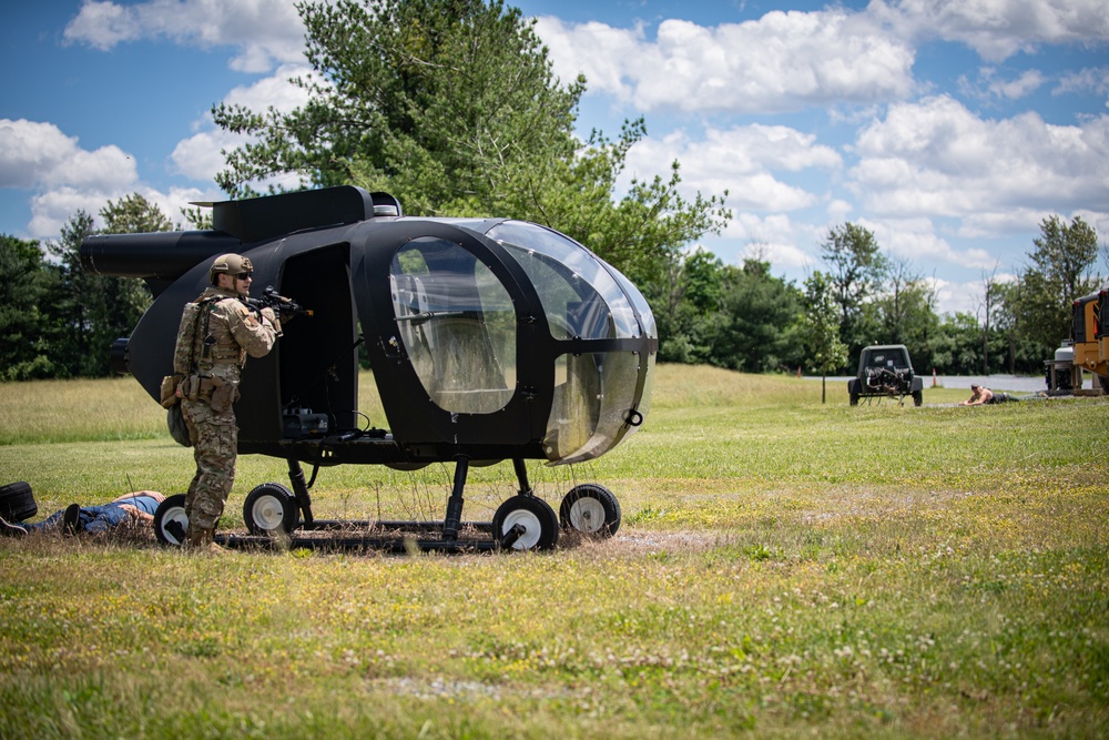
MULTIPOLYGON (((766 373, 854 374, 859 351, 904 344, 918 373, 1038 374, 1070 336, 1071 304, 1098 290, 1097 232, 1081 217, 1044 219, 1016 280, 983 274, 975 308, 937 311, 935 283, 891 259, 851 222, 831 227, 821 268, 798 286, 771 274, 765 252, 742 266, 695 251, 649 282, 662 362, 766 373)), ((1109 247, 1100 247, 1109 265, 1109 247)))

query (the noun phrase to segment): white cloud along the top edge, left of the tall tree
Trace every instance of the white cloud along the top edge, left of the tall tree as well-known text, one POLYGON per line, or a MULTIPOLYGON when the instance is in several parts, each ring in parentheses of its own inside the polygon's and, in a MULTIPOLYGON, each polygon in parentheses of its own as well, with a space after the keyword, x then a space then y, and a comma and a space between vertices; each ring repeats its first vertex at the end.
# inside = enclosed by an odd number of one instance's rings
POLYGON ((65 27, 69 42, 109 50, 140 39, 169 38, 201 48, 238 49, 231 68, 265 72, 303 59, 304 26, 287 0, 149 0, 120 4, 85 0, 65 27))

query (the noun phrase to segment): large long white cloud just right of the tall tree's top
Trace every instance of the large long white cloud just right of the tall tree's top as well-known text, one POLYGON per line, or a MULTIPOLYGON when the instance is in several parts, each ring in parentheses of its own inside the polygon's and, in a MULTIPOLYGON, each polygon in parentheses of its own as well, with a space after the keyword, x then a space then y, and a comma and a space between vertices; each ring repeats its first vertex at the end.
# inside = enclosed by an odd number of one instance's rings
POLYGON ((560 78, 584 72, 591 91, 642 111, 791 111, 903 99, 913 90, 913 50, 843 10, 773 11, 713 28, 671 19, 654 41, 642 27, 557 18, 540 18, 537 32, 560 78))

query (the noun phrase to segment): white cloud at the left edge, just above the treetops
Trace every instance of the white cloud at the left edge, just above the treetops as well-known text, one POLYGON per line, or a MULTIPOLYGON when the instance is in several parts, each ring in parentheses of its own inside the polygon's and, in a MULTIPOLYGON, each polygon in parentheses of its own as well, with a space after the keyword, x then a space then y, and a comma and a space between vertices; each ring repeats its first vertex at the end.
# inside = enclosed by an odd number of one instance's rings
POLYGON ((118 146, 88 151, 52 123, 0 119, 0 187, 114 191, 138 178, 134 160, 118 146))

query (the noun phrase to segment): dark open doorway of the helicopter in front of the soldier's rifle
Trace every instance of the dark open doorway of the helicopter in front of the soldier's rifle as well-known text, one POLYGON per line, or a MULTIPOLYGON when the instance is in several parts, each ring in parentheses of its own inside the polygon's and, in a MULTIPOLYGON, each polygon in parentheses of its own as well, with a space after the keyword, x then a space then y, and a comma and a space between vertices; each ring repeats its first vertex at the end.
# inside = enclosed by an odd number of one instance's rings
POLYGON ((278 291, 312 311, 282 327, 281 403, 285 438, 357 426, 358 332, 350 249, 334 244, 285 261, 278 291))

